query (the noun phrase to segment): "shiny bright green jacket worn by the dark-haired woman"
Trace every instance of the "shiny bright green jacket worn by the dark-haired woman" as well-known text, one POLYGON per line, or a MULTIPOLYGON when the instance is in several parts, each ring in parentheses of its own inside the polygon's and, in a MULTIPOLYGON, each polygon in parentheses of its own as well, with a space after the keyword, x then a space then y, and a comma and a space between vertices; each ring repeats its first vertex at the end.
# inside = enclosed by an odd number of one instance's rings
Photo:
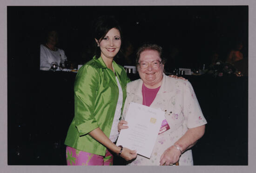
MULTIPOLYGON (((130 80, 124 68, 115 61, 113 67, 123 91, 123 109, 126 84, 130 80)), ((101 57, 94 57, 79 69, 74 82, 74 119, 68 128, 65 145, 105 155, 106 147, 88 133, 100 127, 106 136, 110 135, 119 95, 115 73, 107 68, 101 57)))

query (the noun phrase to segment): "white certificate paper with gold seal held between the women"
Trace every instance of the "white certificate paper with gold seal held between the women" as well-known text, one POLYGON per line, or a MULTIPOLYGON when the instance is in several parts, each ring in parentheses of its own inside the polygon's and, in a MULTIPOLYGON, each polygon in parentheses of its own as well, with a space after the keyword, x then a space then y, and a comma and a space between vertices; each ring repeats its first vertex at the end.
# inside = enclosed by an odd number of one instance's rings
POLYGON ((150 158, 164 119, 161 109, 131 102, 125 117, 129 128, 121 130, 116 145, 136 150, 138 154, 150 158))

